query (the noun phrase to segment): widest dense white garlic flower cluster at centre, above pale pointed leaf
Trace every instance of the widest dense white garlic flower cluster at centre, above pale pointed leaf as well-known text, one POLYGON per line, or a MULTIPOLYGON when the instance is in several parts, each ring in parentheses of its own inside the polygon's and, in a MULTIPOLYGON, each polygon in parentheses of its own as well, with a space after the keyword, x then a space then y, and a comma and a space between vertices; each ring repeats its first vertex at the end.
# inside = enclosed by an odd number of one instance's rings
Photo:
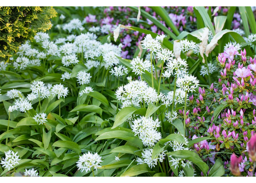
POLYGON ((116 90, 116 98, 118 101, 131 101, 138 104, 139 102, 146 102, 147 104, 159 101, 156 90, 147 85, 145 81, 135 80, 130 83, 118 87, 116 90))

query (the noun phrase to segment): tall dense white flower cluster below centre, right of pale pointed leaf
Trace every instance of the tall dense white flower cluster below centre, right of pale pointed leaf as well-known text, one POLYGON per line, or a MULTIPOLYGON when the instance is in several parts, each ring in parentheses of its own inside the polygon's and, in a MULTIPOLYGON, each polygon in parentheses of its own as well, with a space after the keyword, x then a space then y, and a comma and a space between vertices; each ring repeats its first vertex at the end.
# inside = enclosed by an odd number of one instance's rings
POLYGON ((158 119, 153 120, 152 117, 140 116, 140 118, 133 121, 132 132, 138 135, 144 146, 152 147, 162 138, 161 133, 157 131, 157 127, 160 127, 158 119))

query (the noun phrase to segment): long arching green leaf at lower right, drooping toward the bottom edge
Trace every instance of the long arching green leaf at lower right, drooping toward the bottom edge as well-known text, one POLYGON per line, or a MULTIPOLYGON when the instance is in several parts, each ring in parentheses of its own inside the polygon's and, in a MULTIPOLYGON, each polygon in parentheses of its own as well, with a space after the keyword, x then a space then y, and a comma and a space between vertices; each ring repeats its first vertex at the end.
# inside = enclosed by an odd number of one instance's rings
POLYGON ((208 165, 193 151, 190 150, 178 150, 174 152, 166 153, 168 156, 173 156, 174 158, 181 158, 185 160, 189 160, 196 164, 204 173, 204 175, 207 175, 207 171, 209 169, 208 165))

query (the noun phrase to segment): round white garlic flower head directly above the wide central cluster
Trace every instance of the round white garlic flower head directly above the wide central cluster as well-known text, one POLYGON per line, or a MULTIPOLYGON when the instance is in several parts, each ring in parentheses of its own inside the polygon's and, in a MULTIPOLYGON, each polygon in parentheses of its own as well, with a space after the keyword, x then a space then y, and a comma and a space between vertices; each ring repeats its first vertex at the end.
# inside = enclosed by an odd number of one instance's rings
POLYGON ((136 75, 142 75, 144 71, 150 71, 151 69, 151 63, 148 59, 140 59, 140 57, 136 57, 132 59, 130 62, 132 72, 135 72, 136 75))

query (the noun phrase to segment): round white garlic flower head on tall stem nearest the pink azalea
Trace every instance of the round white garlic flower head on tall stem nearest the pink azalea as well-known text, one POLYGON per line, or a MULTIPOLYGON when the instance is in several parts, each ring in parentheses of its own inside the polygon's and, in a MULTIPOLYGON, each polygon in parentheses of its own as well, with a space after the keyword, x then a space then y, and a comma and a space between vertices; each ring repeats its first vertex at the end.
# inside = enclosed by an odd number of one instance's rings
POLYGON ((187 92, 193 92, 196 91, 195 89, 198 87, 199 81, 193 75, 184 75, 177 78, 176 85, 187 92))

